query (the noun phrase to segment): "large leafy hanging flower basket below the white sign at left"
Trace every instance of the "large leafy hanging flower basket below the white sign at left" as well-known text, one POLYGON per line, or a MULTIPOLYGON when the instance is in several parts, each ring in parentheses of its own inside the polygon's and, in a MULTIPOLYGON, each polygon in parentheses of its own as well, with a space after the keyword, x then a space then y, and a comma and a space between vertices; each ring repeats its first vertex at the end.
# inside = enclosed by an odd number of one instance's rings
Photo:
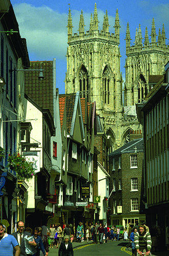
POLYGON ((8 155, 8 167, 16 172, 19 180, 30 180, 35 175, 34 162, 29 162, 19 153, 8 155))

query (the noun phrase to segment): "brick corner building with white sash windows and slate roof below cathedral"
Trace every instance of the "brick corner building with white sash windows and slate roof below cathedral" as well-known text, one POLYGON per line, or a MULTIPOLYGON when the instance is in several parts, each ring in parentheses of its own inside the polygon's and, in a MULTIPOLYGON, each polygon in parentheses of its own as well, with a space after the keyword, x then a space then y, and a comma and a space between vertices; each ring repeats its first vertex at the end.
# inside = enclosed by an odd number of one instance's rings
POLYGON ((145 220, 143 197, 143 139, 126 143, 109 155, 111 225, 145 220))

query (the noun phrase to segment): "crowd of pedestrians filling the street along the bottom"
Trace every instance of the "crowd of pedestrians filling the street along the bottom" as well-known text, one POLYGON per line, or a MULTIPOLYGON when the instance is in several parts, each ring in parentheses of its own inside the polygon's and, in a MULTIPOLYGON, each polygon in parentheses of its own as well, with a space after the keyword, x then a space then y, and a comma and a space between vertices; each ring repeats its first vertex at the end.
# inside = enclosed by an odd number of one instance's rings
POLYGON ((12 234, 6 232, 6 227, 0 223, 0 255, 8 256, 47 256, 50 248, 58 248, 58 255, 74 255, 73 241, 86 242, 92 240, 94 244, 103 244, 107 241, 128 239, 131 242, 132 255, 150 255, 152 239, 149 227, 142 225, 106 226, 102 223, 89 223, 84 229, 80 222, 77 229, 72 224, 52 224, 47 226, 25 227, 23 221, 17 222, 17 231, 12 234))

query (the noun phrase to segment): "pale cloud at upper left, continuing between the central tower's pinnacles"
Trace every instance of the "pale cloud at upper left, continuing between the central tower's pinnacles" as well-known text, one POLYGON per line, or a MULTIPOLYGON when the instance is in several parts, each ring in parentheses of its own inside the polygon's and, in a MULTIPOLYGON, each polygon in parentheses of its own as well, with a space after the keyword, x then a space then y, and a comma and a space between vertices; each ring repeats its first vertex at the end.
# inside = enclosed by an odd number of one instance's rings
MULTIPOLYGON (((28 52, 37 59, 65 58, 67 47, 68 13, 59 13, 47 6, 35 7, 26 3, 13 6, 21 37, 27 39, 28 52)), ((78 33, 80 11, 72 10, 73 32, 78 33)), ((99 29, 104 12, 98 9, 99 29)), ((109 15, 110 32, 114 31, 114 17, 109 15)), ((85 30, 89 30, 90 13, 84 12, 85 30)), ((32 60, 32 59, 31 59, 32 60)))

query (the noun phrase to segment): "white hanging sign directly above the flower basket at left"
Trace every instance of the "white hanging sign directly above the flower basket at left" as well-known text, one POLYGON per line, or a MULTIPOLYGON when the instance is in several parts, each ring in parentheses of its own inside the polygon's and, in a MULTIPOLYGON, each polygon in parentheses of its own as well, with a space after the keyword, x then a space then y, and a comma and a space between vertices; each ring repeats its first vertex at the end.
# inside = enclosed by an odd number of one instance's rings
POLYGON ((34 163, 35 173, 40 172, 40 152, 39 151, 27 151, 22 152, 27 161, 34 163))

